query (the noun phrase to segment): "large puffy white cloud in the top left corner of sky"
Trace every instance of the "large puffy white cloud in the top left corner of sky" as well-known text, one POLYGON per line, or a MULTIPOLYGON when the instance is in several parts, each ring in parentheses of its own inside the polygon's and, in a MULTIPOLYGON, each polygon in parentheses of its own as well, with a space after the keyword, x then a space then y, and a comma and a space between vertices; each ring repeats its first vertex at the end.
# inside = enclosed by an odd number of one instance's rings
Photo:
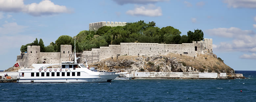
POLYGON ((69 13, 65 6, 55 5, 50 0, 24 5, 23 0, 1 0, 0 11, 24 12, 33 16, 52 15, 58 13, 69 13))

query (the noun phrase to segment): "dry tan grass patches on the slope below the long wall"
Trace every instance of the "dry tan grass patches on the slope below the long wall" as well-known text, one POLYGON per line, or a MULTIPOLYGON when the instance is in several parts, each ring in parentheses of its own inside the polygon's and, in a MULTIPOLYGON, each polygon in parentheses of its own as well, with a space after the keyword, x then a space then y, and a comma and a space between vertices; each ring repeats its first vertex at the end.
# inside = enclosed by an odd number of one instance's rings
MULTIPOLYGON (((221 73, 221 72, 225 72, 225 73, 233 73, 234 70, 232 68, 230 68, 229 66, 227 66, 225 63, 223 63, 222 61, 218 60, 217 58, 215 58, 212 55, 198 55, 196 58, 194 57, 190 57, 190 56, 186 56, 186 55, 182 55, 180 56, 180 54, 173 54, 170 53, 168 55, 161 55, 163 57, 166 58, 177 58, 176 60, 179 63, 182 63, 185 66, 190 66, 190 67, 194 67, 195 69, 197 69, 200 72, 217 72, 217 73, 221 73), (207 58, 207 59, 205 59, 207 58)), ((140 56, 143 59, 146 59, 146 57, 148 56, 140 56)), ((97 62, 97 63, 92 63, 90 64, 90 67, 97 67, 99 68, 99 70, 109 70, 109 67, 107 67, 107 65, 105 65, 105 61, 107 60, 113 60, 114 62, 121 62, 122 60, 126 59, 132 59, 135 60, 135 58, 138 58, 138 56, 118 56, 118 59, 116 59, 116 57, 114 57, 113 59, 111 58, 107 58, 107 59, 103 59, 101 60, 102 63, 97 62)), ((147 61, 143 60, 145 62, 145 68, 147 70, 151 70, 151 66, 146 64, 148 63, 147 61)), ((113 66, 112 68, 115 69, 122 69, 125 67, 121 67, 121 66, 113 66)))

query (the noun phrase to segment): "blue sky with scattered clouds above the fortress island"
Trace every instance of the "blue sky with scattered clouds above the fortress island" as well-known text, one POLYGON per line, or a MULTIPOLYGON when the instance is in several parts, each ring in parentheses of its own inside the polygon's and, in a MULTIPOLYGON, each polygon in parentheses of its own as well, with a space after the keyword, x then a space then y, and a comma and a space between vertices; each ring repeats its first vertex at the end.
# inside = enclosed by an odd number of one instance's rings
POLYGON ((154 21, 181 35, 201 29, 213 53, 234 70, 256 70, 256 0, 0 0, 0 70, 21 45, 76 36, 89 23, 154 21))

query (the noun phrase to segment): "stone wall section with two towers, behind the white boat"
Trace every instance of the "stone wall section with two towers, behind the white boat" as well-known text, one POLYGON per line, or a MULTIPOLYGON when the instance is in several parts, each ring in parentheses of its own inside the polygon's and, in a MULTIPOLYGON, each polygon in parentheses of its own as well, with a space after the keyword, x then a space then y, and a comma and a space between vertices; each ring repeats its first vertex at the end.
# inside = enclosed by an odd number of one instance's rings
POLYGON ((71 45, 61 45, 61 52, 40 52, 40 46, 27 46, 27 53, 18 55, 16 63, 21 67, 33 68, 34 63, 61 63, 69 61, 72 54, 71 45))

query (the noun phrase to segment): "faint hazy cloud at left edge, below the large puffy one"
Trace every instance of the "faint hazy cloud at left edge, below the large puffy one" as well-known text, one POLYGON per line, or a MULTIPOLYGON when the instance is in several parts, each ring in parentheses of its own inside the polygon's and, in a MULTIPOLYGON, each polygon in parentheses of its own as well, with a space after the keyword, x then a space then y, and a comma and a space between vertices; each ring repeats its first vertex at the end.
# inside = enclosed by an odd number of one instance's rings
POLYGON ((8 23, 7 21, 5 21, 5 23, 6 24, 2 25, 2 27, 0 26, 0 36, 14 35, 25 31, 25 28, 27 28, 27 26, 17 25, 16 22, 8 23))

